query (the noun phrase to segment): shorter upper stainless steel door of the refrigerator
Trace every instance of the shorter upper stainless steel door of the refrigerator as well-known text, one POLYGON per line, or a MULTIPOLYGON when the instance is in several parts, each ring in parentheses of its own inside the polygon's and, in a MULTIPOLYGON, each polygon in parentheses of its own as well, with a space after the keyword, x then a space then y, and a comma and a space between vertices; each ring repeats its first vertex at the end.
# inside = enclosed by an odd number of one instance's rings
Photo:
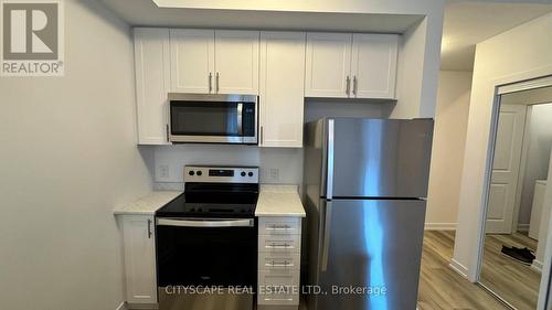
POLYGON ((328 160, 322 196, 427 196, 433 120, 326 121, 328 160))

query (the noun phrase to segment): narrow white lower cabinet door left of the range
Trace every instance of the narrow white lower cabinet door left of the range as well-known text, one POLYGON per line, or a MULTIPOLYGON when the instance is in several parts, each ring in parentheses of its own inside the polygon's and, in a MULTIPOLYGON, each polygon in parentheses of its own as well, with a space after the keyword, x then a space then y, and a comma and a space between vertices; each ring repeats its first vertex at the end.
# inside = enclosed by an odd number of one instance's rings
POLYGON ((123 236, 128 303, 156 303, 156 243, 153 216, 125 215, 123 236))

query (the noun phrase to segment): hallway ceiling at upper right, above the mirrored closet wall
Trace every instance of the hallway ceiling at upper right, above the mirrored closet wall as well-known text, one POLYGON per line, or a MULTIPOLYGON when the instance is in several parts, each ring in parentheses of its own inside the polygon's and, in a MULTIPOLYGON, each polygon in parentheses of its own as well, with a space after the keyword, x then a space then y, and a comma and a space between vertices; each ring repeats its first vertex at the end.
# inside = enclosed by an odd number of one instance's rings
POLYGON ((552 12, 552 1, 524 2, 450 1, 445 8, 440 68, 473 71, 477 43, 552 12))

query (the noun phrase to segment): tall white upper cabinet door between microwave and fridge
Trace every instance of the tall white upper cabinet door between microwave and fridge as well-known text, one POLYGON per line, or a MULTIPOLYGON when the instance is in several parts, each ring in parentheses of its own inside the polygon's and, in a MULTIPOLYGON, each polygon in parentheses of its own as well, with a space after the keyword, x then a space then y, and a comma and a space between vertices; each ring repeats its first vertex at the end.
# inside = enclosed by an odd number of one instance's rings
POLYGON ((305 33, 261 33, 262 147, 302 147, 305 33))

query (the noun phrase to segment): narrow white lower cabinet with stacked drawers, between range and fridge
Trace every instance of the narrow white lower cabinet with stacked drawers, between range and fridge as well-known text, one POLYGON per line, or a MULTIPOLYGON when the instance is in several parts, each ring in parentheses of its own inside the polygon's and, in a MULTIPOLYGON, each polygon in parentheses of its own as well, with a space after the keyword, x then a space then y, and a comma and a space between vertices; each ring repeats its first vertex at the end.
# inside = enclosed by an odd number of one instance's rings
POLYGON ((300 240, 299 217, 259 217, 258 308, 299 307, 300 240))

